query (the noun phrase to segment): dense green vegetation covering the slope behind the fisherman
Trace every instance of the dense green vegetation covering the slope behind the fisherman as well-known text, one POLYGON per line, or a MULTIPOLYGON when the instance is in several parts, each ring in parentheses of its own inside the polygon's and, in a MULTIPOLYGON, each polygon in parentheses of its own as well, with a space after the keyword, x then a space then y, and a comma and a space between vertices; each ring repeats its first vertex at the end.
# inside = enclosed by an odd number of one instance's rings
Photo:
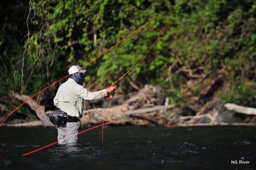
MULTIPOLYGON (((71 65, 85 65, 147 21, 164 17, 164 34, 117 93, 152 84, 178 105, 216 95, 256 107, 255 0, 4 0, 0 15, 1 106, 14 103, 12 92, 31 96, 67 75, 71 65)), ((88 65, 86 87, 108 87, 163 26, 163 20, 151 22, 88 65)), ((57 88, 37 101, 52 105, 57 88)))

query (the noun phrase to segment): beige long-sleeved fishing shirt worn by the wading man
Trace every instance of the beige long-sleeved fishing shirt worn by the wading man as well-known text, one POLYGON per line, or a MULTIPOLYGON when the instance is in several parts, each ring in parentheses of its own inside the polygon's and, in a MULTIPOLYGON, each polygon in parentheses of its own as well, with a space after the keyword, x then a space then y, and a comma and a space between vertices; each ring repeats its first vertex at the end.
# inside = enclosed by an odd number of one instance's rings
POLYGON ((60 85, 54 97, 54 105, 68 115, 80 119, 83 112, 83 99, 96 100, 107 94, 107 89, 91 92, 69 78, 65 83, 60 85))

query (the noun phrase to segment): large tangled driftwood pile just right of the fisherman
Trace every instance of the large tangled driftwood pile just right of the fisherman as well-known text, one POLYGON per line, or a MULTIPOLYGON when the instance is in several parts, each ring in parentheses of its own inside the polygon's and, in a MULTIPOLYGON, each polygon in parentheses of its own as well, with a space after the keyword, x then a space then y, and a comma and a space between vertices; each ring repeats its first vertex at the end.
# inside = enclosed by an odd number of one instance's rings
MULTIPOLYGON (((165 113, 175 105, 168 105, 168 100, 160 94, 160 87, 146 85, 121 105, 110 107, 105 121, 116 121, 117 125, 164 125, 167 123, 165 113), (165 105, 158 104, 164 101, 165 105)), ((102 108, 84 111, 80 119, 82 125, 102 123, 106 111, 102 108)))

